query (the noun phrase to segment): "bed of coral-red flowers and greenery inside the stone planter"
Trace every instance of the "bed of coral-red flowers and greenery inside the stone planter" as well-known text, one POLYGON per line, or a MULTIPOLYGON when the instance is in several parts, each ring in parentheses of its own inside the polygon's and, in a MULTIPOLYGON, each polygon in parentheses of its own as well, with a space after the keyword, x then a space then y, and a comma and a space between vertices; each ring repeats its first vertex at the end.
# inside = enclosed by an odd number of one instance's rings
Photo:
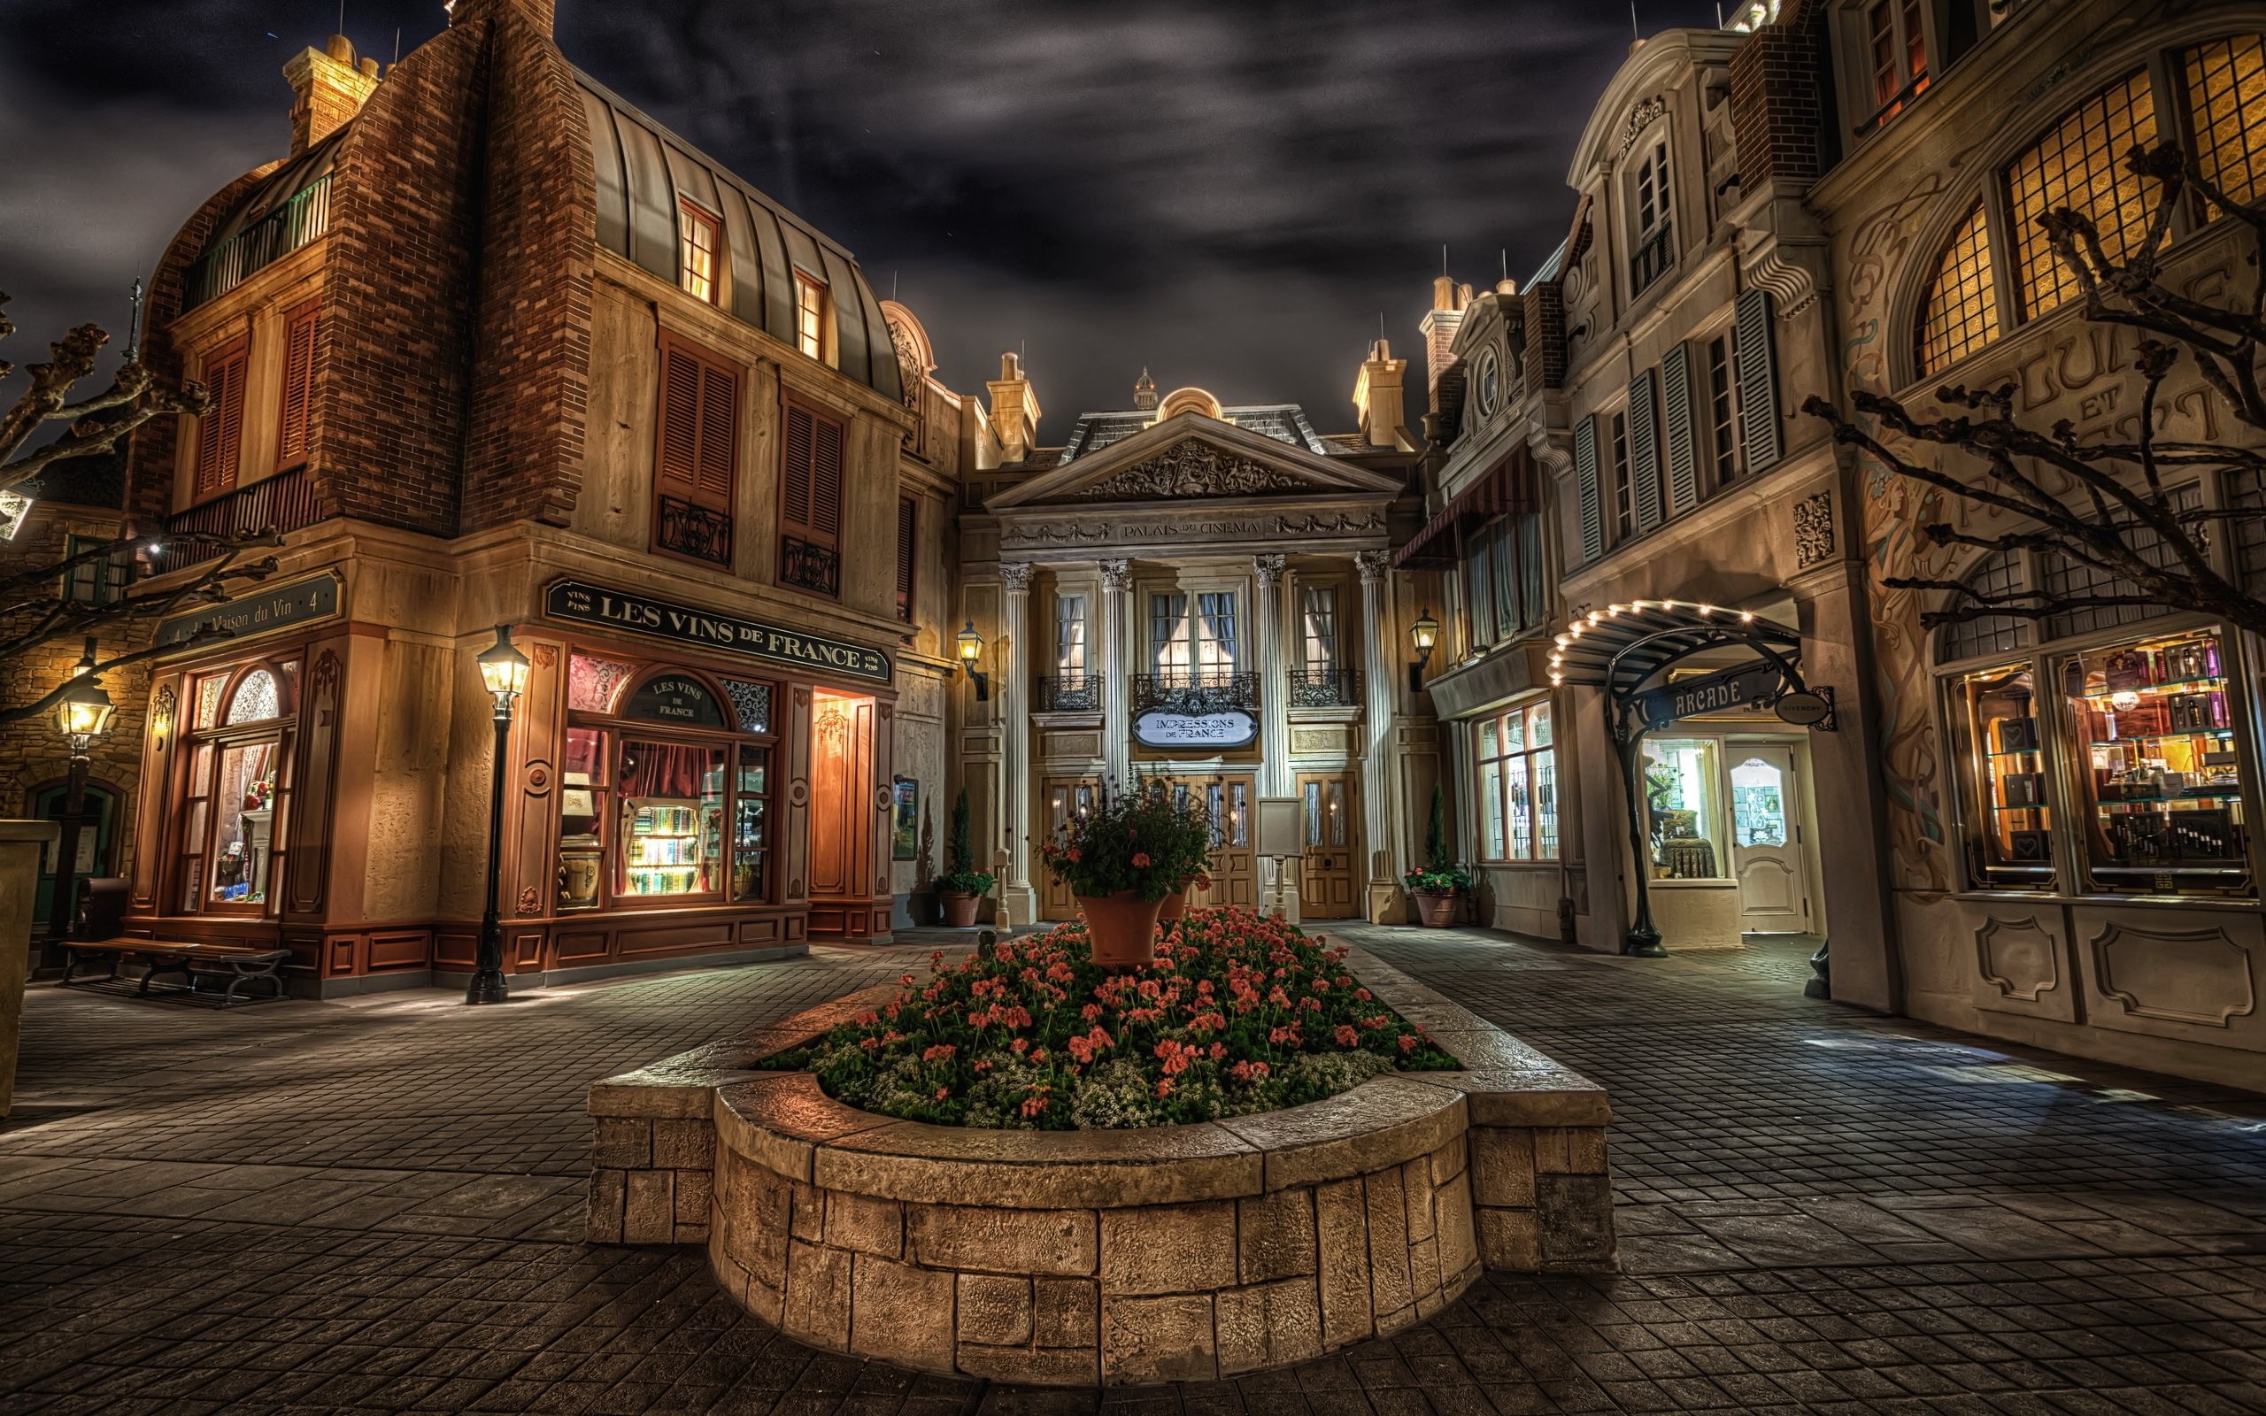
POLYGON ((1094 967, 1083 924, 947 965, 775 1067, 836 1101, 931 1121, 1119 1131, 1319 1101, 1385 1072, 1455 1069, 1346 972, 1346 952, 1246 909, 1190 911, 1138 972, 1094 967))

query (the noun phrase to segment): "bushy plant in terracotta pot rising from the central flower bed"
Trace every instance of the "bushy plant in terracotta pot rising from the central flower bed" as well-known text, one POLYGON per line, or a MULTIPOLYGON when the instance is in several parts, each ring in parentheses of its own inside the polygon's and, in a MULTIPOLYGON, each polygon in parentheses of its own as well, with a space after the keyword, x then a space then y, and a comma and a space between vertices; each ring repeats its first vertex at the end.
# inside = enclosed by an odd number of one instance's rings
POLYGON ((1104 791, 1094 811, 1063 822, 1038 854, 1076 895, 1094 963, 1142 967, 1165 897, 1203 875, 1210 847, 1201 809, 1174 802, 1162 782, 1135 782, 1131 791, 1104 791))

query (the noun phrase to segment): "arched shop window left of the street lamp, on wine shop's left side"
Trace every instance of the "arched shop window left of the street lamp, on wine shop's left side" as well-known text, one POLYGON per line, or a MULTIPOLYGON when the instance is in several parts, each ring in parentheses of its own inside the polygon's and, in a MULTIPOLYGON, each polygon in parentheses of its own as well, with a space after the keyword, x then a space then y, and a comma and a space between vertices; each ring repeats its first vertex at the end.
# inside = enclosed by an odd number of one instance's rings
POLYGON ((281 868, 299 711, 297 659, 190 680, 174 890, 184 913, 265 915, 281 868))

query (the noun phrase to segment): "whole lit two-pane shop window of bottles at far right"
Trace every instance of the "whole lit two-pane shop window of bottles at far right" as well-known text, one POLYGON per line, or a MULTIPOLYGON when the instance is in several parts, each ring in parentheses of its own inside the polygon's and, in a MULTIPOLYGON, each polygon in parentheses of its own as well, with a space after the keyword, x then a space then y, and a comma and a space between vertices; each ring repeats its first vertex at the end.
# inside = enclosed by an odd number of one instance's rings
MULTIPOLYGON (((1969 582, 2008 591, 2035 575, 2055 598, 2132 594, 2092 566, 2033 562, 1992 555, 1969 582)), ((2162 619, 2153 605, 2078 607, 1937 634, 1967 888, 2255 893, 2230 641, 2218 625, 2162 619)))

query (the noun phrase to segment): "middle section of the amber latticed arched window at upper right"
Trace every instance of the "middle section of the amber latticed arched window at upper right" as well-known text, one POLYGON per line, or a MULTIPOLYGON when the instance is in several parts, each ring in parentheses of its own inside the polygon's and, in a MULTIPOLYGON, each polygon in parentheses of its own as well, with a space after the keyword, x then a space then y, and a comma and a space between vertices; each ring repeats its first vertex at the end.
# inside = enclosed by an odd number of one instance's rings
POLYGON ((2110 261, 2123 261, 2141 240, 2148 229, 2148 193, 2123 159, 2135 147, 2150 145, 2155 91, 2148 86, 2148 70, 2135 70, 2078 104, 2005 170, 2014 274, 2026 315, 2042 315, 2078 292, 2037 217, 2062 206, 2092 217, 2110 261))

